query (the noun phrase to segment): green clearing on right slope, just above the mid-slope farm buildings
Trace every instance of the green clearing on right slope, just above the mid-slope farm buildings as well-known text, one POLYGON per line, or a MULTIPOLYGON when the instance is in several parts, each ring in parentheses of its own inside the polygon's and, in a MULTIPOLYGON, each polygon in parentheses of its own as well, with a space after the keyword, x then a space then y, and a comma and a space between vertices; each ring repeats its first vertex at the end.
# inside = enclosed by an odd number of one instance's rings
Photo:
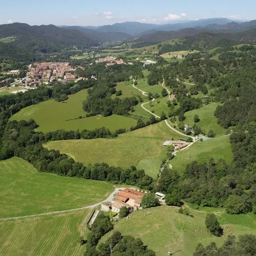
POLYGON ((217 118, 214 116, 214 111, 216 110, 218 103, 212 102, 208 105, 205 105, 202 108, 188 111, 185 113, 186 119, 185 124, 194 125, 194 116, 198 114, 200 121, 197 123, 201 129, 208 134, 209 130, 213 130, 216 136, 225 135, 227 130, 222 128, 221 125, 217 123, 217 118))

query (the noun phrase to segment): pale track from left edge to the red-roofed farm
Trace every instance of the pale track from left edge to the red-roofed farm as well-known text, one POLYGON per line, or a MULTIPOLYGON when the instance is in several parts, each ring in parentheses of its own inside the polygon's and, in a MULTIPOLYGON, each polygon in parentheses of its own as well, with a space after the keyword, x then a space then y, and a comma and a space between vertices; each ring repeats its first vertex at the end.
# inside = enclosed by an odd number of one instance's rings
POLYGON ((97 204, 93 204, 93 205, 88 205, 85 207, 81 207, 81 208, 76 208, 76 209, 70 209, 70 210, 64 210, 64 211, 55 211, 55 212, 45 212, 45 213, 40 213, 40 214, 34 214, 34 215, 26 215, 26 216, 19 216, 19 217, 12 217, 12 218, 0 218, 0 221, 7 221, 7 220, 16 220, 16 219, 21 219, 21 218, 30 218, 30 217, 36 217, 36 216, 44 216, 44 215, 50 215, 50 214, 57 214, 57 213, 63 213, 63 212, 75 212, 75 211, 79 211, 79 210, 83 210, 83 209, 90 209, 90 208, 95 208, 97 206, 99 206, 101 203, 103 202, 111 202, 113 199, 113 195, 117 193, 117 191, 119 189, 125 189, 125 188, 116 188, 109 196, 106 200, 97 203, 97 204))

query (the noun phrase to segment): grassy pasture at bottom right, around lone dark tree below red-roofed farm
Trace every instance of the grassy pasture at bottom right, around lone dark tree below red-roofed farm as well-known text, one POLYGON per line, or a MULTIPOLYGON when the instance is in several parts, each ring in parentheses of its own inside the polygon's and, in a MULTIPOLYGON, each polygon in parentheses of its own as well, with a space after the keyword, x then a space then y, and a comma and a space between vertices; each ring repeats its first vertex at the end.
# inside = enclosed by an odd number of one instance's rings
MULTIPOLYGON (((214 209, 212 209, 212 212, 214 209)), ((215 242, 221 246, 226 239, 225 233, 232 227, 234 235, 244 233, 256 234, 255 215, 228 215, 224 209, 217 217, 224 228, 224 236, 216 237, 206 229, 204 221, 206 212, 189 209, 193 217, 178 213, 177 207, 160 206, 138 210, 115 222, 114 229, 105 235, 101 241, 105 241, 114 231, 118 230, 122 235, 140 237, 149 249, 156 252, 157 256, 168 254, 169 245, 175 256, 192 256, 198 243, 204 245, 215 242)))

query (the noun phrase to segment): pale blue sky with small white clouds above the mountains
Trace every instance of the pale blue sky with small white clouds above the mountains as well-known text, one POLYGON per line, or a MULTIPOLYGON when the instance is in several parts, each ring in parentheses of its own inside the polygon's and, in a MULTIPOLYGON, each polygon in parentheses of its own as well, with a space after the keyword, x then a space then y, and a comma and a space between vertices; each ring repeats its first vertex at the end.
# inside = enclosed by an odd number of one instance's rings
POLYGON ((1 3, 0 24, 99 26, 125 21, 170 23, 210 17, 254 20, 255 10, 255 0, 12 0, 1 3))

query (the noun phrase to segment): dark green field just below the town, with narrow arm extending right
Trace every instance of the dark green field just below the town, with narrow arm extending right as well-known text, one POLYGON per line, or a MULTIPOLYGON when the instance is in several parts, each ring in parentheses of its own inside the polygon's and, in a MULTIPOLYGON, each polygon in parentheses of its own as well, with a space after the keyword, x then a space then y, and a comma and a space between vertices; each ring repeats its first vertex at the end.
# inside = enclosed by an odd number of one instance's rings
POLYGON ((86 116, 82 109, 82 102, 87 97, 87 89, 70 95, 65 102, 56 102, 47 100, 37 105, 23 108, 21 111, 12 116, 11 120, 29 120, 35 119, 39 128, 37 131, 47 132, 63 129, 66 131, 80 131, 83 129, 93 130, 105 126, 111 131, 119 128, 130 128, 136 125, 136 120, 125 116, 91 116, 87 118, 75 119, 79 116, 86 116), (70 120, 74 119, 74 120, 70 120))

